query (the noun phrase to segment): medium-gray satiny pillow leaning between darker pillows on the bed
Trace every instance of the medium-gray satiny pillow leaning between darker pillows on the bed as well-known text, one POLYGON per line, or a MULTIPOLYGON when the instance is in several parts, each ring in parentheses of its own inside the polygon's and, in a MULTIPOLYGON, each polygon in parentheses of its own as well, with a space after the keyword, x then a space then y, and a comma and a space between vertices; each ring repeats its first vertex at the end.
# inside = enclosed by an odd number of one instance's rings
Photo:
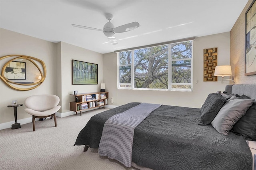
POLYGON ((212 126, 220 133, 227 135, 232 127, 245 115, 255 99, 231 99, 225 104, 212 121, 212 126))

